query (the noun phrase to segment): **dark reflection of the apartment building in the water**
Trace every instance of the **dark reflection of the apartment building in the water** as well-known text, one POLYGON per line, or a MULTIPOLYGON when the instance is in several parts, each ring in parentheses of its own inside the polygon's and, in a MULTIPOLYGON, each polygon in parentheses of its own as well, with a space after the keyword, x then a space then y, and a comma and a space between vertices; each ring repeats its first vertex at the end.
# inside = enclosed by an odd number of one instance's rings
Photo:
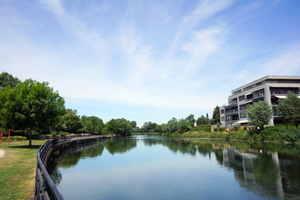
POLYGON ((287 158, 278 153, 243 153, 223 148, 223 165, 233 168, 240 185, 255 193, 267 194, 272 198, 299 199, 298 158, 287 158))

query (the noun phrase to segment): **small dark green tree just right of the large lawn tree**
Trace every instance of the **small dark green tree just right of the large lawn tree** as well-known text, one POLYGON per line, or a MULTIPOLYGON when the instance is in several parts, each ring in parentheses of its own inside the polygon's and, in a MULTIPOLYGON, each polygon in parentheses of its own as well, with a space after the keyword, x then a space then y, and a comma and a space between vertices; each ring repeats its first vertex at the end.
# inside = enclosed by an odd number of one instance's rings
POLYGON ((64 128, 66 132, 77 133, 78 129, 83 128, 80 117, 77 115, 76 110, 67 109, 66 114, 63 116, 64 128))

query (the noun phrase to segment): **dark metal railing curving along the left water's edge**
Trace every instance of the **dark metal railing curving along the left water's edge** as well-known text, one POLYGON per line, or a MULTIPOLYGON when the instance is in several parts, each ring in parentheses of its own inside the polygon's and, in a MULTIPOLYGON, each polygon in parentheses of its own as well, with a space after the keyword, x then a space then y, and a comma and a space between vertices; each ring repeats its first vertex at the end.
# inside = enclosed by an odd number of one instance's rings
POLYGON ((76 136, 76 137, 64 137, 49 139, 38 150, 37 154, 37 166, 36 166, 36 180, 35 180, 35 192, 34 200, 62 200, 63 197, 56 188, 51 176, 49 175, 45 163, 51 150, 60 144, 74 141, 85 141, 91 139, 106 138, 103 135, 92 136, 76 136))

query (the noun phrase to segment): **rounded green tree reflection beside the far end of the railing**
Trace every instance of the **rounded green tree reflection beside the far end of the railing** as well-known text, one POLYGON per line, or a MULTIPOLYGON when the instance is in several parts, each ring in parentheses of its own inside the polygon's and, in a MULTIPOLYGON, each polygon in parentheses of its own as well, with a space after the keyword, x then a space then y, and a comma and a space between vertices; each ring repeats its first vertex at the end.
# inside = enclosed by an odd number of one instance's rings
POLYGON ((136 147, 136 140, 117 138, 107 141, 104 146, 111 154, 124 153, 136 147))

